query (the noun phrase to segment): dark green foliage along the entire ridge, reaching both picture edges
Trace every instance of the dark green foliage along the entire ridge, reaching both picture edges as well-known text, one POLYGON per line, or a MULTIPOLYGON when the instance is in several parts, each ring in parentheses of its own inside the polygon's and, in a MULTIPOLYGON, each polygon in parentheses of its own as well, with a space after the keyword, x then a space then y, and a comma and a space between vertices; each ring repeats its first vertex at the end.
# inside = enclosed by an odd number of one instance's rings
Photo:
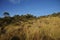
MULTIPOLYGON (((13 17, 10 17, 10 14, 8 12, 4 12, 3 15, 5 17, 0 18, 0 27, 1 26, 6 26, 9 24, 16 24, 19 25, 19 23, 21 24, 21 22, 26 22, 28 20, 32 20, 32 19, 37 19, 36 16, 33 16, 31 14, 26 14, 26 15, 15 15, 13 17)), ((60 17, 60 12, 58 13, 53 13, 52 15, 47 15, 47 16, 40 16, 38 18, 45 18, 45 17, 60 17)))

